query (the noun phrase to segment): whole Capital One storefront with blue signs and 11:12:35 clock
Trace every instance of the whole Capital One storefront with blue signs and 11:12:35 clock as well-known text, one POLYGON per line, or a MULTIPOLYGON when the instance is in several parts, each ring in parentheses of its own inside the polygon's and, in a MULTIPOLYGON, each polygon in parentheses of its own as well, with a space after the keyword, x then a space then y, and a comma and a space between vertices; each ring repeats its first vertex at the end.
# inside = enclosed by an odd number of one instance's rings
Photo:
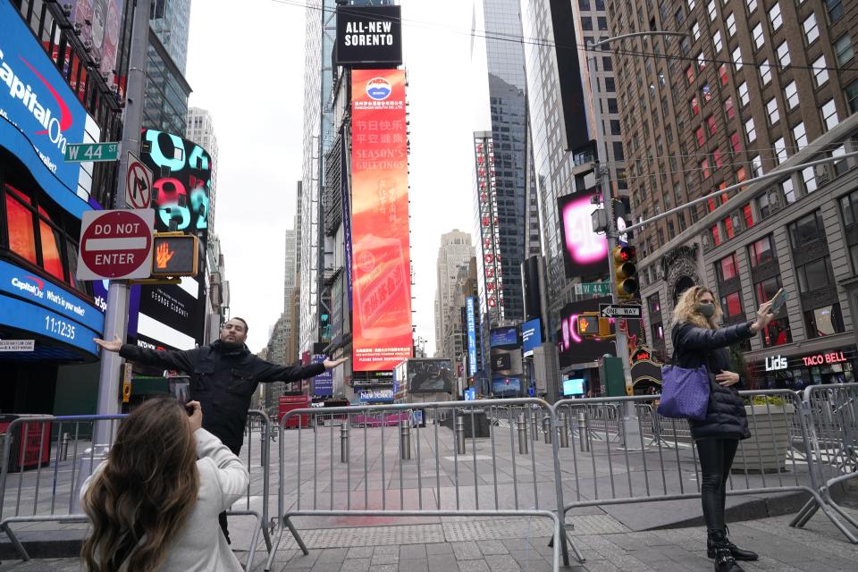
POLYGON ((104 292, 75 276, 91 165, 63 155, 99 130, 13 4, 0 21, 0 410, 83 413, 104 292))

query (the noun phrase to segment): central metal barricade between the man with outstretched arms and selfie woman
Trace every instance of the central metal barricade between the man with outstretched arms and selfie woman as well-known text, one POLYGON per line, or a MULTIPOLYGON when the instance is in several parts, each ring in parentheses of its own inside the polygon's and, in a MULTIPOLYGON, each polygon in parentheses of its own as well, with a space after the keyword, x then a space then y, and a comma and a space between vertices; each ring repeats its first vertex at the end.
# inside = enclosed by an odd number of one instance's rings
MULTIPOLYGON (((566 534, 556 512, 563 506, 559 467, 555 462, 553 476, 538 470, 535 443, 529 454, 519 452, 516 421, 522 415, 527 426, 534 418, 541 423, 543 416, 556 426, 551 407, 536 399, 290 411, 281 421, 278 439, 277 514, 282 526, 265 570, 272 568, 286 530, 309 553, 294 525, 295 517, 309 516, 547 517, 554 525, 557 570, 561 553, 568 563, 568 543, 560 542, 566 534), (412 412, 417 409, 446 422, 416 423, 412 412), (314 423, 287 430, 290 416, 299 415, 311 416, 314 423), (348 442, 337 439, 341 422, 329 423, 332 416, 346 417, 348 442), (402 441, 406 438, 407 445, 402 441), (338 446, 349 450, 336 455, 338 446), (406 446, 410 458, 404 454, 406 446)), ((551 447, 556 459, 556 439, 551 447)))

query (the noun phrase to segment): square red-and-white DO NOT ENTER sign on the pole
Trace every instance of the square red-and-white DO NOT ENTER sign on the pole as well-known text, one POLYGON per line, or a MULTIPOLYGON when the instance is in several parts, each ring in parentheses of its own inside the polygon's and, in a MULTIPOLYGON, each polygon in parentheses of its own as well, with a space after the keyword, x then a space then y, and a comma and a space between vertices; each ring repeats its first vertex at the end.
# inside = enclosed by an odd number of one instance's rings
POLYGON ((148 278, 154 210, 87 211, 80 224, 78 280, 148 278))

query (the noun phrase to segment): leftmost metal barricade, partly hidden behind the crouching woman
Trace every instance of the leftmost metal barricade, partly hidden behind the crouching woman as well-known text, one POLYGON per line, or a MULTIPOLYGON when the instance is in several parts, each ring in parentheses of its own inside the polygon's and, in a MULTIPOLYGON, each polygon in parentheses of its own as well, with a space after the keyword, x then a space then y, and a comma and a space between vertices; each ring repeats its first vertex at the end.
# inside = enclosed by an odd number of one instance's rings
MULTIPOLYGON (((19 416, 6 427, 0 468, 0 531, 9 538, 21 559, 29 554, 13 531, 18 523, 87 522, 80 507, 84 480, 106 457, 124 415, 116 416, 19 416), (110 442, 93 446, 93 425, 109 424, 110 442)), ((231 516, 257 518, 259 529, 271 549, 269 533, 271 425, 262 411, 248 414, 248 441, 242 457, 250 473, 245 509, 228 511, 231 516), (255 439, 255 432, 265 439, 255 439), (259 461, 256 456, 259 456, 259 461), (256 466, 255 466, 256 465, 256 466), (261 479, 255 478, 261 472, 261 479), (260 483, 261 481, 261 483, 260 483), (261 486, 260 486, 261 484, 261 486), (251 500, 261 499, 260 510, 251 509, 251 500)), ((248 551, 248 563, 256 552, 258 530, 248 551)))

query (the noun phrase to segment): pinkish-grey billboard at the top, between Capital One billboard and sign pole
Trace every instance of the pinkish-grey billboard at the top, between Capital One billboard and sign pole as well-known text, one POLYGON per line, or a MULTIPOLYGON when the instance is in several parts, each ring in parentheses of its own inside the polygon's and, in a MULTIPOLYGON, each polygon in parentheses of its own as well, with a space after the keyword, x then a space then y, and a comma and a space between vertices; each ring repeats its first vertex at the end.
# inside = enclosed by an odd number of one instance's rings
POLYGON ((80 40, 91 46, 90 54, 100 62, 98 70, 107 74, 108 84, 114 83, 119 29, 122 22, 122 0, 71 0, 69 20, 80 24, 80 40))

